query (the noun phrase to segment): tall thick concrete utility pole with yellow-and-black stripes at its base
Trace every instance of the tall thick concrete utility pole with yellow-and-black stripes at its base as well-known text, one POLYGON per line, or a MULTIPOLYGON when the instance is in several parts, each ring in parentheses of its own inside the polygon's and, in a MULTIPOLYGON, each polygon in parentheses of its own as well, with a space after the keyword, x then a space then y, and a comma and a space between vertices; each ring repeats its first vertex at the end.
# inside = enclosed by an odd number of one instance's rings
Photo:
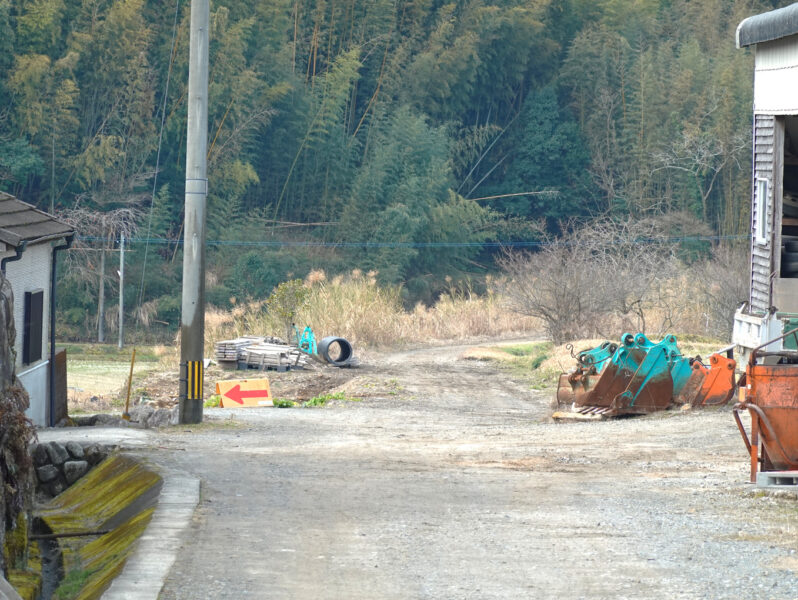
POLYGON ((205 204, 208 195, 209 0, 191 0, 188 134, 183 238, 183 310, 180 315, 181 423, 202 422, 205 345, 205 204))

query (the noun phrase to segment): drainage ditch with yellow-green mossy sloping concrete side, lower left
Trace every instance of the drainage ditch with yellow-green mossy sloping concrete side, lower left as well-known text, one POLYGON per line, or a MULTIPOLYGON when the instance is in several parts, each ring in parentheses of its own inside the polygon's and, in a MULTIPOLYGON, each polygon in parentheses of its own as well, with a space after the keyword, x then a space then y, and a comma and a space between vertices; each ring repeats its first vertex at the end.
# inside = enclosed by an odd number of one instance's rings
MULTIPOLYGON (((122 571, 152 519, 163 487, 155 469, 100 444, 32 447, 38 478, 23 598, 99 598, 122 571)), ((13 583, 13 581, 12 581, 13 583)))

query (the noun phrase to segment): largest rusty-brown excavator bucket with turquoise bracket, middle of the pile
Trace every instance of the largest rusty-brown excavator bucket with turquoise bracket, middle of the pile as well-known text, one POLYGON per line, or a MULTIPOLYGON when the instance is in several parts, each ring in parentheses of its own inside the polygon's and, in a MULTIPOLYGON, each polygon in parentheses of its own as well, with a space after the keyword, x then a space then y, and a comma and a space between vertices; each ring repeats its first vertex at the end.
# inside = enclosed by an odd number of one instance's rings
POLYGON ((673 399, 670 368, 680 356, 676 338, 654 344, 639 333, 624 334, 621 346, 593 388, 574 403, 584 415, 616 417, 664 410, 673 399))

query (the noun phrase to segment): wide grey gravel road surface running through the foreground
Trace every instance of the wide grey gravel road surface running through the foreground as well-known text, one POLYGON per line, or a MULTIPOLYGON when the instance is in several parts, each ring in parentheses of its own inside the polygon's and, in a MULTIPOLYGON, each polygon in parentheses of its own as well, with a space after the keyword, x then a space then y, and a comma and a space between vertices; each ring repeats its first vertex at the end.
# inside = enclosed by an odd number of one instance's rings
POLYGON ((161 598, 798 597, 798 501, 745 483, 729 409, 552 423, 464 349, 162 430, 152 460, 202 488, 161 598))

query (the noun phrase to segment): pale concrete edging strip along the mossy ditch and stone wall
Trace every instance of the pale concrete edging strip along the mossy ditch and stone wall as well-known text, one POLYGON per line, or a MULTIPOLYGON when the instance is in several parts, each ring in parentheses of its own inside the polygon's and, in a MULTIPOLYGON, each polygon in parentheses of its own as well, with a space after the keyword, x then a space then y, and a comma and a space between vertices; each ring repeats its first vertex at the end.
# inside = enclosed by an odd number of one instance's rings
MULTIPOLYGON (((152 434, 147 431, 97 427, 59 428, 40 430, 38 437, 40 442, 91 441, 117 446, 124 451, 127 458, 138 458, 146 465, 146 471, 150 474, 137 477, 147 480, 150 487, 160 487, 160 494, 153 508, 146 510, 146 514, 137 517, 134 522, 125 524, 128 528, 143 530, 143 533, 133 543, 131 551, 126 553, 124 566, 121 571, 116 571, 119 574, 105 590, 102 598, 157 599, 174 564, 182 534, 190 524, 194 509, 199 503, 199 479, 157 464, 152 454, 148 454, 146 458, 137 457, 136 450, 148 448, 153 440, 152 434), (157 483, 155 478, 159 480, 157 483)), ((140 487, 144 486, 142 483, 140 487)), ((102 512, 102 509, 99 510, 102 512)))

